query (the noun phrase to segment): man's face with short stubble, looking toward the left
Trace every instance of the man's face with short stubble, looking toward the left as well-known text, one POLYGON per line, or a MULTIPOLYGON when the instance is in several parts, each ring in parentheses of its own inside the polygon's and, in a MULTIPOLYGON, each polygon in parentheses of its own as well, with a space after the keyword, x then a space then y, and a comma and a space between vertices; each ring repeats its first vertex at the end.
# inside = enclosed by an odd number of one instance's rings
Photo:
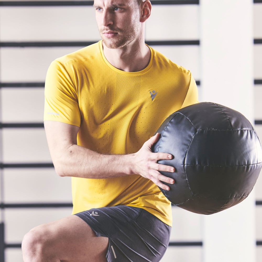
POLYGON ((140 9, 137 0, 95 0, 96 21, 103 44, 122 48, 140 33, 140 9))

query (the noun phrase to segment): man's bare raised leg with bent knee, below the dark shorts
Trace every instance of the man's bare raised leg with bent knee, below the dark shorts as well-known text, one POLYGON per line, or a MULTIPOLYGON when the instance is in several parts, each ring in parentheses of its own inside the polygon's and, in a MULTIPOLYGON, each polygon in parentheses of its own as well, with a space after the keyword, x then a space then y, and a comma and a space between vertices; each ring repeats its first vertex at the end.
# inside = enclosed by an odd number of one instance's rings
POLYGON ((24 262, 106 261, 107 237, 96 237, 77 216, 30 230, 22 241, 24 262))

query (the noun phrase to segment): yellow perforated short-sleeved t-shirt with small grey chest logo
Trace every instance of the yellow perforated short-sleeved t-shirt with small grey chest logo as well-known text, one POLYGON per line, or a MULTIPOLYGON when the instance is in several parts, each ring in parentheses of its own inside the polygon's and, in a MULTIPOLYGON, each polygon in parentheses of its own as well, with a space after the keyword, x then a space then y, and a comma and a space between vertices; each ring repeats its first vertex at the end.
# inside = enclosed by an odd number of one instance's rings
MULTIPOLYGON (((174 111, 197 101, 191 73, 150 47, 139 72, 113 67, 102 41, 53 61, 45 83, 44 120, 80 127, 77 143, 102 154, 137 152, 174 111)), ((171 204, 140 175, 72 177, 73 214, 102 206, 143 208, 172 225, 171 204)))

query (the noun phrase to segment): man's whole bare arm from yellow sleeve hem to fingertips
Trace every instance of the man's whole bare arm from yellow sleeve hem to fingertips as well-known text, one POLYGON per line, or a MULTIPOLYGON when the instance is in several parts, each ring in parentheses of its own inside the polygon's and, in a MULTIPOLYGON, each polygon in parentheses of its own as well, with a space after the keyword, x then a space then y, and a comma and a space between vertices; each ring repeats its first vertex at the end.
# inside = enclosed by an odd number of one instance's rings
POLYGON ((51 158, 59 176, 110 178, 138 174, 166 190, 169 187, 162 181, 174 183, 174 179, 159 172, 174 172, 174 167, 158 163, 158 160, 171 159, 172 155, 151 151, 160 134, 151 137, 133 154, 103 155, 77 145, 79 127, 56 121, 44 124, 51 158))

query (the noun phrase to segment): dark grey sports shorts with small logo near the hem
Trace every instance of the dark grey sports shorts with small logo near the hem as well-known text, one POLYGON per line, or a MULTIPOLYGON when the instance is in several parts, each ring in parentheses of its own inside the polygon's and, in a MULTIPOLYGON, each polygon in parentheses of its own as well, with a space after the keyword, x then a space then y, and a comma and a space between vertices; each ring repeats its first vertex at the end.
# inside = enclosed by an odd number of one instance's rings
POLYGON ((164 255, 171 227, 142 208, 112 206, 75 214, 96 236, 108 237, 108 262, 157 262, 164 255))

